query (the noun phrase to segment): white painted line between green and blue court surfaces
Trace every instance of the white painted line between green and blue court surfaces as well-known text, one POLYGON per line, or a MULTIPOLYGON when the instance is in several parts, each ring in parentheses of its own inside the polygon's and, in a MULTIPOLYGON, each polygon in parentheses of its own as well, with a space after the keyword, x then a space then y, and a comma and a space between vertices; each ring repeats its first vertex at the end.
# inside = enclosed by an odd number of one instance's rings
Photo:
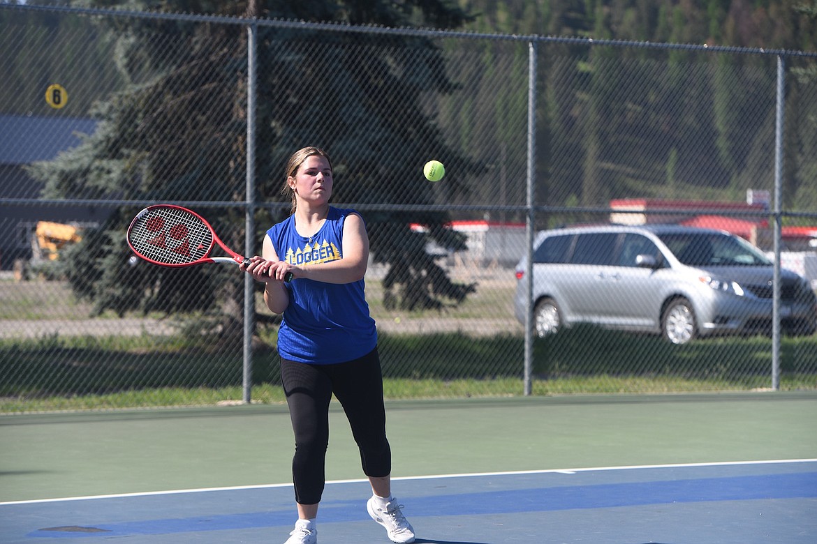
MULTIPOLYGON (((439 475, 424 475, 424 476, 397 476, 392 478, 392 481, 399 480, 439 480, 442 478, 471 478, 480 476, 507 476, 507 475, 525 475, 525 474, 575 474, 576 472, 594 472, 594 471, 629 471, 645 468, 688 468, 688 467, 734 467, 740 465, 779 465, 785 463, 796 462, 817 462, 817 458, 813 459, 777 459, 770 461, 724 461, 724 462, 688 462, 675 463, 669 465, 632 465, 627 467, 587 467, 587 468, 553 468, 544 469, 541 471, 505 471, 505 472, 471 472, 463 474, 439 474, 439 475)), ((366 479, 355 480, 332 480, 326 482, 330 484, 359 484, 368 482, 366 479)), ((288 484, 257 484, 257 485, 236 485, 232 487, 221 488, 201 488, 201 489, 172 489, 168 491, 145 491, 141 493, 118 493, 111 495, 88 495, 87 497, 65 497, 65 498, 39 498, 30 499, 28 501, 9 501, 0 502, 0 506, 8 506, 15 504, 40 504, 44 502, 69 502, 69 501, 90 501, 98 498, 128 498, 128 497, 153 497, 156 495, 173 495, 184 493, 209 493, 212 491, 236 491, 242 489, 274 489, 282 487, 290 487, 292 483, 288 484)))

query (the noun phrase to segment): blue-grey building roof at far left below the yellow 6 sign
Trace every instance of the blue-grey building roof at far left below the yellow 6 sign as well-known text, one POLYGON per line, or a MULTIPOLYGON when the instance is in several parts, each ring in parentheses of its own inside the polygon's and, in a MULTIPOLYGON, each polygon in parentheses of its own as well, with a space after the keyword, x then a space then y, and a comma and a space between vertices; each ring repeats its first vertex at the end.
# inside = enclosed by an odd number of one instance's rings
POLYGON ((78 134, 93 134, 97 122, 76 117, 0 115, 0 164, 48 161, 78 146, 78 134))

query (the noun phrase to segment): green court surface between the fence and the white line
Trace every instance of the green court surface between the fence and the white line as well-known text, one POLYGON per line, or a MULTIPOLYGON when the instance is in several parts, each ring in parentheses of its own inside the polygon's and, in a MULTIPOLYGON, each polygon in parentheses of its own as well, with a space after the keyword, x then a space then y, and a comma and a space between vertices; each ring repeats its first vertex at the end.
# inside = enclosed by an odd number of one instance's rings
MULTIPOLYGON (((333 404, 328 480, 363 477, 333 404)), ((817 391, 386 403, 395 477, 817 457, 817 391)), ((284 405, 0 416, 0 502, 291 481, 284 405)))

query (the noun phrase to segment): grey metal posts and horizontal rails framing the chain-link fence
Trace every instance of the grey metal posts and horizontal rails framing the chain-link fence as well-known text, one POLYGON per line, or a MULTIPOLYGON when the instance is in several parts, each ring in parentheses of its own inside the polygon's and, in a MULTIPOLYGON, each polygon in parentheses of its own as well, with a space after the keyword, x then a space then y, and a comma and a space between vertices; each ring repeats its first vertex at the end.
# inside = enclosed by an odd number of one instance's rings
MULTIPOLYGON (((578 207, 563 207, 563 206, 541 206, 538 205, 534 197, 534 188, 536 185, 536 108, 537 108, 537 64, 540 44, 560 43, 560 44, 574 44, 583 46, 611 46, 618 48, 639 48, 648 50, 676 50, 676 51, 691 51, 699 53, 717 54, 728 53, 733 55, 757 55, 763 57, 774 57, 777 61, 776 71, 776 112, 775 112, 775 188, 773 197, 773 209, 768 214, 762 214, 762 217, 771 219, 774 225, 774 299, 773 299, 773 331, 772 331, 772 361, 771 361, 771 387, 775 391, 779 389, 779 366, 780 366, 780 251, 781 251, 781 228, 783 219, 787 217, 798 217, 803 214, 794 212, 787 212, 783 210, 782 206, 782 185, 783 185, 783 163, 784 163, 784 113, 786 109, 785 96, 785 67, 787 59, 789 58, 805 58, 817 59, 817 53, 806 51, 788 51, 788 50, 766 50, 761 48, 745 48, 733 46, 708 46, 695 44, 673 44, 673 43, 652 43, 652 42, 634 42, 634 41, 618 41, 618 40, 596 40, 593 38, 559 38, 559 37, 545 37, 539 35, 507 35, 495 33, 465 33, 450 30, 432 30, 432 29, 392 29, 373 26, 355 26, 348 24, 332 24, 332 23, 309 23, 304 21, 293 20, 263 20, 258 18, 245 17, 228 17, 222 15, 192 15, 179 13, 158 13, 158 12, 142 12, 142 11, 126 11, 117 9, 91 9, 78 7, 64 7, 64 6, 33 6, 33 5, 11 5, 0 4, 0 9, 16 9, 24 11, 47 11, 56 14, 70 14, 70 15, 102 15, 118 18, 138 18, 150 20, 173 20, 186 21, 194 23, 218 23, 218 24, 237 24, 245 27, 248 34, 248 122, 247 122, 247 139, 248 147, 247 153, 247 172, 246 172, 246 196, 245 201, 183 201, 178 202, 182 206, 230 206, 242 207, 245 210, 245 250, 247 254, 252 254, 254 241, 252 240, 252 232, 255 231, 253 221, 254 212, 258 209, 277 207, 279 205, 274 203, 261 203, 255 200, 255 178, 254 158, 256 153, 256 80, 257 80, 257 32, 260 27, 273 27, 279 29, 310 29, 321 30, 333 33, 365 33, 375 35, 391 35, 391 36, 411 36, 423 38, 460 38, 460 39, 490 39, 498 41, 511 41, 525 43, 528 47, 529 55, 529 72, 528 72, 528 117, 527 117, 527 179, 526 179, 526 204, 525 206, 432 206, 437 210, 449 211, 509 211, 518 212, 525 215, 525 229, 527 251, 529 254, 533 252, 534 234, 535 234, 535 217, 537 213, 596 213, 609 214, 609 208, 578 208, 578 207)), ((67 201, 64 200, 46 200, 46 199, 15 199, 15 198, 0 198, 0 204, 9 205, 26 205, 26 204, 48 204, 53 206, 65 205, 67 201)), ((148 201, 96 201, 96 200, 73 200, 72 204, 94 204, 99 206, 142 206, 151 204, 148 201)), ((283 206, 283 205, 280 205, 283 206)), ((339 204, 338 206, 343 206, 339 204)), ((428 210, 429 206, 404 206, 404 205, 388 205, 388 206, 363 206, 356 205, 360 210, 367 207, 377 210, 395 210, 395 211, 416 211, 428 210)), ((663 210, 659 213, 678 213, 679 211, 689 210, 663 210)), ((627 213, 626 211, 617 210, 617 213, 627 213)), ((633 212, 635 213, 635 212, 633 212)), ((656 213, 656 212, 650 212, 656 213)), ((729 215, 725 212, 724 215, 729 215)), ((742 215, 747 215, 742 212, 742 215)), ((806 215, 810 216, 810 215, 806 215)), ((525 281, 528 282, 528 292, 533 293, 533 263, 528 260, 528 270, 525 274, 525 281)), ((254 308, 253 301, 253 280, 250 276, 245 277, 244 281, 244 307, 243 307, 243 402, 249 403, 251 400, 251 385, 252 385, 252 330, 254 328, 254 308)), ((534 333, 533 333, 533 313, 534 301, 529 299, 528 314, 525 323, 525 360, 524 360, 524 394, 529 396, 532 392, 532 369, 533 369, 533 352, 534 352, 534 333)))

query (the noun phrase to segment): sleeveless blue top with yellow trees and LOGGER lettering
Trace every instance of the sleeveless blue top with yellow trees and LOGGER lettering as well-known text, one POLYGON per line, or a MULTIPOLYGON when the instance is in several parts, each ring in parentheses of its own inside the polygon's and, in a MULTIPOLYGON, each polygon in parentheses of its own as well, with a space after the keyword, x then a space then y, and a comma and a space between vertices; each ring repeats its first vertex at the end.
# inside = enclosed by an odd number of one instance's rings
MULTIPOLYGON (((320 230, 310 238, 295 229, 290 215, 266 232, 278 258, 298 267, 342 259, 343 223, 355 210, 329 207, 320 230)), ((283 359, 315 365, 354 360, 377 346, 377 329, 368 313, 364 281, 346 284, 296 278, 286 285, 289 305, 278 332, 283 359)))

